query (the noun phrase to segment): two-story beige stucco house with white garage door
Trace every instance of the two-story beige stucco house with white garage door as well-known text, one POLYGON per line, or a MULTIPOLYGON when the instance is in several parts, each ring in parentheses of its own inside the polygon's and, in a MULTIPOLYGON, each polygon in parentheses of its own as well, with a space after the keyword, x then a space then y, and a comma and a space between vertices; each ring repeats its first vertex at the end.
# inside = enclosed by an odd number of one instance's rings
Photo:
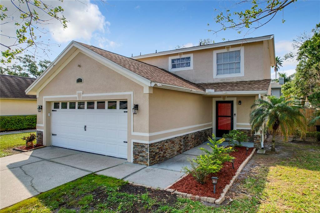
POLYGON ((43 106, 37 142, 152 165, 212 132, 250 133, 274 63, 273 35, 132 58, 73 41, 26 90, 43 106))

